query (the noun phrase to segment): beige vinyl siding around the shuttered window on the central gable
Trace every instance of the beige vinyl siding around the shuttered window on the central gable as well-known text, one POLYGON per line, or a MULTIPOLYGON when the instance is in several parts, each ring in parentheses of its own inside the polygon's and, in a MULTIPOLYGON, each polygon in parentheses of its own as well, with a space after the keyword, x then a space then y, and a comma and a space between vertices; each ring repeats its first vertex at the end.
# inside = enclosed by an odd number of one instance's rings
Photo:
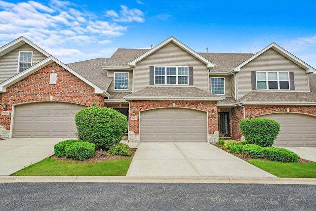
POLYGON ((144 58, 134 68, 134 91, 143 89, 149 85, 149 66, 192 66, 193 85, 197 88, 209 91, 206 64, 186 52, 173 42, 160 48, 158 51, 144 58))

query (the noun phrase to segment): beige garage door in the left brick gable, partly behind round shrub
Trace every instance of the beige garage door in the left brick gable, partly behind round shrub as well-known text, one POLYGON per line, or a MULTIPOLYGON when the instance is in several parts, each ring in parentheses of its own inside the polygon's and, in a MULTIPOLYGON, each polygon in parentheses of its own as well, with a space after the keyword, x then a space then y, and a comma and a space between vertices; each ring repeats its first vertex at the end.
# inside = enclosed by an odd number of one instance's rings
POLYGON ((75 116, 86 106, 39 102, 15 106, 14 138, 76 138, 75 116))

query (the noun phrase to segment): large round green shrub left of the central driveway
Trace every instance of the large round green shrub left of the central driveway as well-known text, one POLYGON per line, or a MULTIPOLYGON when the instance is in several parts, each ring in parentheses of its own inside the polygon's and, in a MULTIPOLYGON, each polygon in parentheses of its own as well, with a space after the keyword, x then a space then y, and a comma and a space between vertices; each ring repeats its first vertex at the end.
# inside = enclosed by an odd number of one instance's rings
POLYGON ((94 143, 98 148, 117 144, 128 127, 125 115, 111 108, 97 106, 79 111, 75 122, 78 138, 94 143))

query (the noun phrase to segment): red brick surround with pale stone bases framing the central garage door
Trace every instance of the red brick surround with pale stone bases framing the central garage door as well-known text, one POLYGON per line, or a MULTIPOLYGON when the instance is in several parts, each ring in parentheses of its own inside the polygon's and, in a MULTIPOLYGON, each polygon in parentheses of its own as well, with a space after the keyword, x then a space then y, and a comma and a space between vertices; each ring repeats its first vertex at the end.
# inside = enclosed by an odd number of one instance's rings
POLYGON ((139 142, 139 118, 140 112, 157 108, 190 108, 208 112, 208 135, 212 142, 218 141, 217 101, 182 101, 182 100, 131 100, 129 118, 128 141, 139 142), (173 103, 175 104, 173 106, 173 103), (215 115, 212 115, 214 110, 215 115), (135 115, 132 112, 135 111, 135 115), (137 117, 132 120, 131 117, 137 117))

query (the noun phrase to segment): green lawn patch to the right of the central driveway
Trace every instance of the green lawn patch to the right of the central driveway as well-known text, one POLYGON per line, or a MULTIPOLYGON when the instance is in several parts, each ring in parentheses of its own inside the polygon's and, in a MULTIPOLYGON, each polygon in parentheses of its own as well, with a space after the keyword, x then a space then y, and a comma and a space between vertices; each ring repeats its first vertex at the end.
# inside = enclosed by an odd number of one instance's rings
POLYGON ((247 162, 277 177, 316 178, 316 163, 282 163, 257 160, 247 162))

